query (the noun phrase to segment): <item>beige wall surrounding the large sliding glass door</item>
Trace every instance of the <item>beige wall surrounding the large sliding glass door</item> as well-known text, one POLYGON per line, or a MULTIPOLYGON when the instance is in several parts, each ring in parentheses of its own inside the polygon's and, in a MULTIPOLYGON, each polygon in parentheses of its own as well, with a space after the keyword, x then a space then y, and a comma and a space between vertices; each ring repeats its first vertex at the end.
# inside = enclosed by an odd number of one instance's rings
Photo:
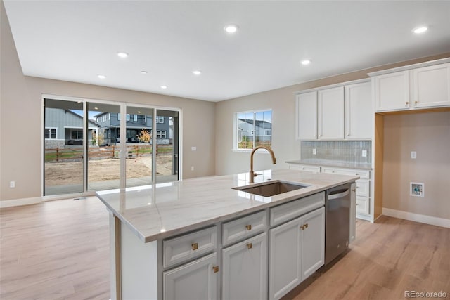
POLYGON ((42 93, 181 108, 183 177, 215 174, 215 103, 25 77, 3 2, 0 8, 0 200, 41 196, 42 93), (196 146, 197 151, 191 151, 191 146, 196 146), (195 171, 191 171, 191 166, 195 171), (15 181, 15 188, 9 188, 10 181, 15 181))

